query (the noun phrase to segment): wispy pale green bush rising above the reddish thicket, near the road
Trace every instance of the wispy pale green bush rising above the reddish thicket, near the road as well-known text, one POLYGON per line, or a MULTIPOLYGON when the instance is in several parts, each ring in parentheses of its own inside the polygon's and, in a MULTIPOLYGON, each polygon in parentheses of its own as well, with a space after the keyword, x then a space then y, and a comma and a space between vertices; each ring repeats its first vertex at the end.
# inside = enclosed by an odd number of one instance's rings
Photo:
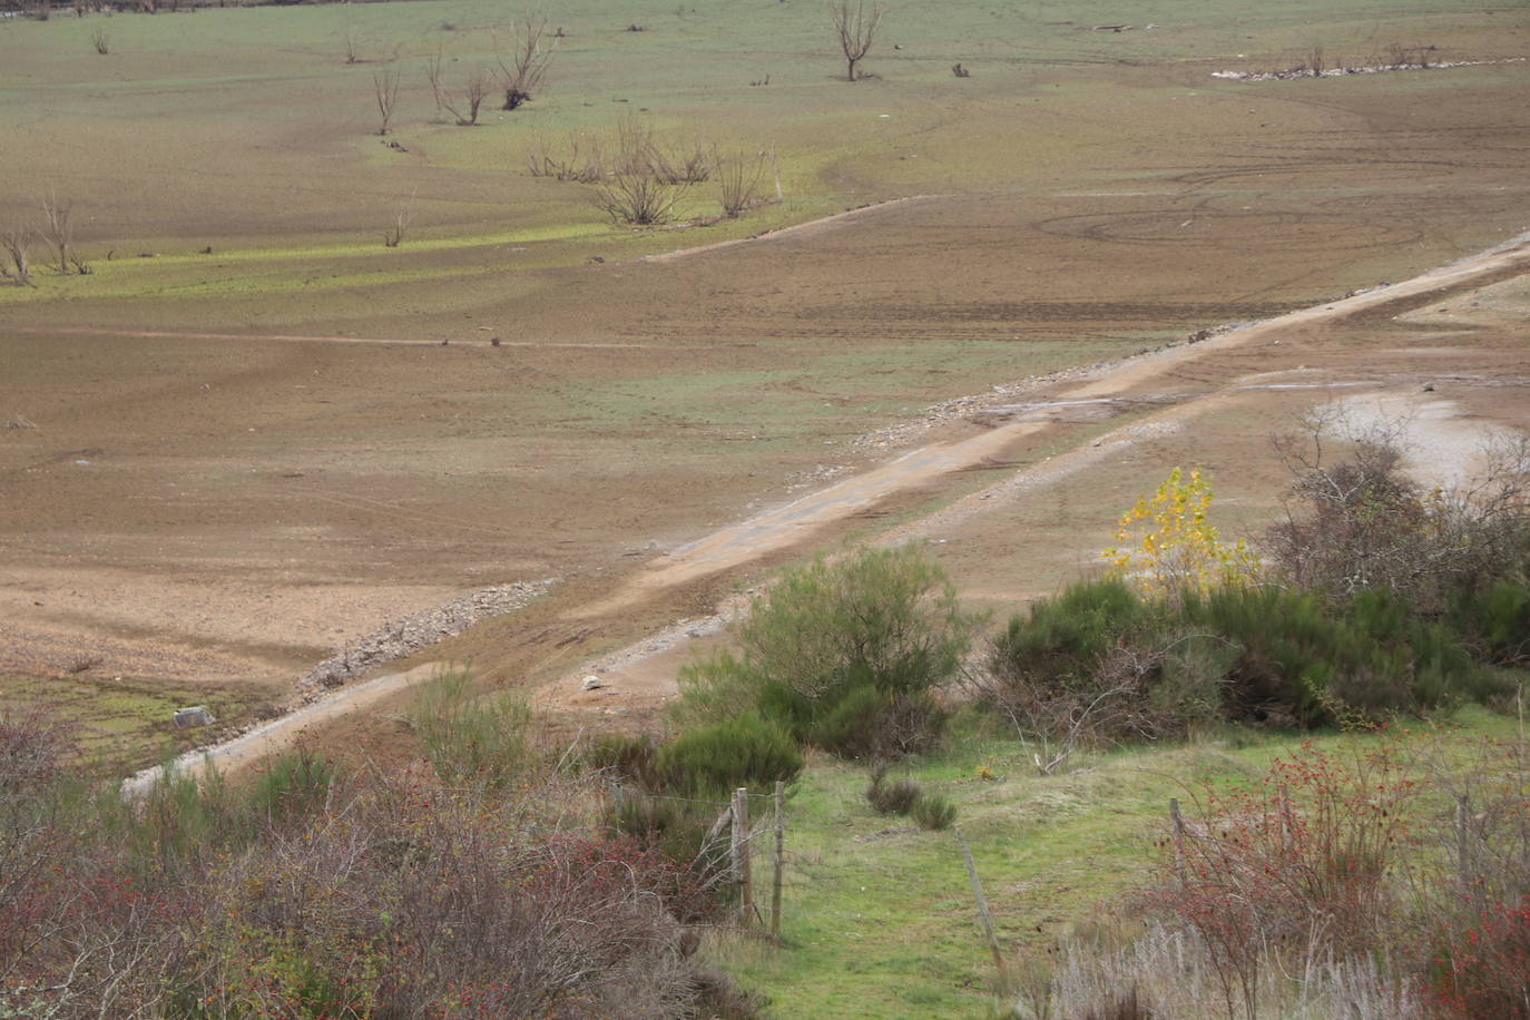
POLYGON ((474 697, 473 677, 461 670, 427 682, 409 722, 447 783, 502 788, 531 762, 531 708, 509 693, 474 697))

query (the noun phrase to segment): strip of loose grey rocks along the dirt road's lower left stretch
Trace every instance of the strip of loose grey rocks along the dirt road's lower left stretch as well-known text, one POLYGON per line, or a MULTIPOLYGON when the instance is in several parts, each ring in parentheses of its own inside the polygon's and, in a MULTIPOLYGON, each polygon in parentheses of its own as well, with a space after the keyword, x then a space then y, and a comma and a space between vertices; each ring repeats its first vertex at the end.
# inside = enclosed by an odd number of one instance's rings
POLYGON ((318 700, 326 690, 340 687, 375 665, 402 659, 410 651, 459 635, 488 616, 517 610, 542 595, 552 583, 554 578, 548 578, 483 587, 442 606, 412 613, 404 619, 387 621, 300 677, 297 682, 298 700, 301 703, 318 700))

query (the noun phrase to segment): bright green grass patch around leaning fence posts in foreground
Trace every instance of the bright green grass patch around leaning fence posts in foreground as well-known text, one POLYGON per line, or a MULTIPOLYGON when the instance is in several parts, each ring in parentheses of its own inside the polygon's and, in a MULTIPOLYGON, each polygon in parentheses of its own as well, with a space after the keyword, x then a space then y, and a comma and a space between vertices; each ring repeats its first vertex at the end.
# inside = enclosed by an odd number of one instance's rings
MULTIPOLYGON (((1066 936, 1149 881, 1170 797, 1189 806, 1206 784, 1247 786, 1302 742, 1227 729, 1190 745, 1082 755, 1060 775, 1039 775, 991 720, 968 716, 962 725, 949 751, 906 772, 955 801, 1008 954, 1066 936), (979 766, 994 778, 981 778, 979 766)), ((1507 736, 1513 725, 1463 710, 1443 746, 1507 736)), ((1383 739, 1322 734, 1313 743, 1343 752, 1383 739)), ((809 763, 786 807, 785 945, 716 940, 707 951, 767 992, 773 1017, 991 1015, 993 960, 956 835, 877 815, 864 786, 864 768, 809 763)), ((768 888, 765 856, 754 875, 768 888)))

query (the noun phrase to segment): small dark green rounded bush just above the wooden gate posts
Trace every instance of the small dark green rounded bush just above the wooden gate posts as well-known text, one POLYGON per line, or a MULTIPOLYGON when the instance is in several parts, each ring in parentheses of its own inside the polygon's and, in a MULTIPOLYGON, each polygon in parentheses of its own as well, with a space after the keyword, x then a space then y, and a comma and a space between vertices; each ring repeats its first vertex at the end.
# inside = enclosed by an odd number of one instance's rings
POLYGON ((711 797, 793 780, 802 765, 793 739, 757 713, 688 729, 661 746, 655 759, 666 789, 711 797))

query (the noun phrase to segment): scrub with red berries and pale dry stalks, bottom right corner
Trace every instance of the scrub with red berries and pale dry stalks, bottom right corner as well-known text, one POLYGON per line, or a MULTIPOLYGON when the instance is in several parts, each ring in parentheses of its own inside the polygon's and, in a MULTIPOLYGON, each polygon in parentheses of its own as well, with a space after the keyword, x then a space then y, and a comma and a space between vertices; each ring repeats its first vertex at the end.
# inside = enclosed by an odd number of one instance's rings
POLYGON ((1209 792, 1158 844, 1146 933, 1068 948, 1043 997, 1082 1015, 1129 982, 1154 1015, 1530 1017, 1527 766, 1522 739, 1304 745, 1209 792))

